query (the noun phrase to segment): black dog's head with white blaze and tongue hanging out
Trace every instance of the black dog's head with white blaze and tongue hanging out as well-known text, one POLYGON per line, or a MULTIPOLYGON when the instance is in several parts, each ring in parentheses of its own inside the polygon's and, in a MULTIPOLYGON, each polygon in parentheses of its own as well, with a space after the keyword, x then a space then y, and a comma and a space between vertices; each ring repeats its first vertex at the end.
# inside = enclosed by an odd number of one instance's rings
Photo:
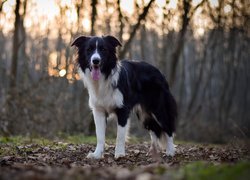
POLYGON ((94 80, 99 80, 101 73, 106 77, 117 62, 116 47, 121 43, 113 36, 80 36, 72 46, 78 48, 78 63, 83 72, 89 69, 94 80))

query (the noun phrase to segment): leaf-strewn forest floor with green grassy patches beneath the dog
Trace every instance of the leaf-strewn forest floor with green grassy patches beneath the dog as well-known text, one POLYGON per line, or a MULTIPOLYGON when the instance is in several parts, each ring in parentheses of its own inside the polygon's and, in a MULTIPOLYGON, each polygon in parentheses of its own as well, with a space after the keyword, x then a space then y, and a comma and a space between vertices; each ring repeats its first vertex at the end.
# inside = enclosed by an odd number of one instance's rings
POLYGON ((148 156, 148 142, 128 143, 114 159, 109 142, 101 160, 87 159, 93 140, 79 143, 0 137, 0 179, 250 179, 245 143, 212 145, 177 142, 174 157, 148 156))

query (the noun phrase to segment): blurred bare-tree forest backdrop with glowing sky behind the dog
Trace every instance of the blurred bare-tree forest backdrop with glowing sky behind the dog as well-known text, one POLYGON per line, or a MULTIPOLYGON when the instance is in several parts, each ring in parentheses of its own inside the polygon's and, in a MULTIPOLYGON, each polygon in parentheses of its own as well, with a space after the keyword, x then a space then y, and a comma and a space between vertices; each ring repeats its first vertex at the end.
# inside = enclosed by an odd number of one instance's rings
POLYGON ((177 137, 249 138, 248 0, 1 1, 0 134, 93 132, 70 47, 82 34, 112 34, 119 58, 160 68, 178 102, 177 137))

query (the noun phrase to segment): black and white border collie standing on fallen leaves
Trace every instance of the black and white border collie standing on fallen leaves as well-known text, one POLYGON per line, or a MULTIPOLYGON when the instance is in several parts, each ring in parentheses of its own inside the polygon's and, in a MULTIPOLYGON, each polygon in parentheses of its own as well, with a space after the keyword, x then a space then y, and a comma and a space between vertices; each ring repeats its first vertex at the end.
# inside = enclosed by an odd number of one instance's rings
POLYGON ((80 36, 72 43, 78 49, 81 77, 89 93, 89 106, 96 126, 97 146, 88 158, 103 156, 106 119, 117 118, 115 158, 125 156, 125 137, 132 110, 151 136, 150 151, 158 145, 173 156, 173 132, 177 117, 176 102, 158 69, 132 60, 118 61, 116 47, 121 43, 113 36, 80 36))

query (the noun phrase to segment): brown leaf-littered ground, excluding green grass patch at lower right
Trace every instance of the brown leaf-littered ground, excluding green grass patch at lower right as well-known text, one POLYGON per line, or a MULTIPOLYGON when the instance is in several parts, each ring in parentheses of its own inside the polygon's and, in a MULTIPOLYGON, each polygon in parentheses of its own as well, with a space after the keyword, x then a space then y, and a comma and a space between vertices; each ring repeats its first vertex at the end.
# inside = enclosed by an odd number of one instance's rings
POLYGON ((147 155, 148 143, 130 144, 127 156, 117 160, 114 145, 107 145, 103 159, 87 159, 94 147, 62 142, 0 144, 0 179, 166 179, 172 177, 172 170, 190 162, 216 165, 250 160, 248 148, 238 145, 179 144, 174 157, 152 157, 147 155))

